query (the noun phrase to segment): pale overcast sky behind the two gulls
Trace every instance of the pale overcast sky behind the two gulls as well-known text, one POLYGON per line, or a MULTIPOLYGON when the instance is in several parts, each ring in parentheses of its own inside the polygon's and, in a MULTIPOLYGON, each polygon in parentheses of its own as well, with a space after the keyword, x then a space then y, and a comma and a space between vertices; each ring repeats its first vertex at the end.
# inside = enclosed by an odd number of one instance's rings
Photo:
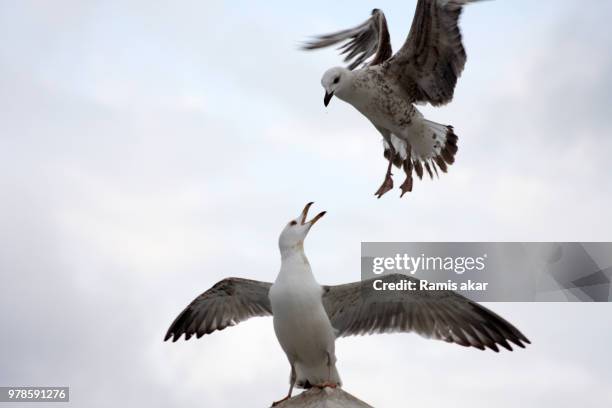
MULTIPOLYGON (((396 49, 415 3, 376 4, 396 49)), ((306 242, 326 284, 359 279, 361 241, 610 241, 612 3, 585 4, 468 7, 455 99, 421 108, 455 127, 457 162, 376 200, 380 137, 323 107, 339 58, 297 50, 372 2, 0 0, 0 385, 68 385, 75 407, 267 406, 289 374, 270 318, 162 338, 223 277, 274 280, 308 201, 328 210, 306 242)), ((533 345, 341 339, 345 389, 377 407, 612 403, 610 304, 489 306, 533 345)))

